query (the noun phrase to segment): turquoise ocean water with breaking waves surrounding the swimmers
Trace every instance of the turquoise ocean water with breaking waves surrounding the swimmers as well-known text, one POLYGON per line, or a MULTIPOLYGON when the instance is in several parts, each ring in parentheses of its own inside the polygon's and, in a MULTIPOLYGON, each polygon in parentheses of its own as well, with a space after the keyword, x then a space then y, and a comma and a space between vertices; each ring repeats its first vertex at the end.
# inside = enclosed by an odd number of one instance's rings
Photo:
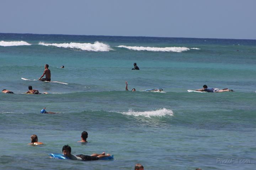
POLYGON ((254 169, 255 54, 256 40, 0 34, 0 87, 15 93, 0 94, 0 169, 254 169), (21 79, 45 64, 69 84, 21 79), (235 92, 187 92, 203 84, 235 92), (32 134, 45 145, 28 146, 32 134), (114 160, 48 157, 65 144, 114 160), (236 158, 251 163, 217 163, 236 158))

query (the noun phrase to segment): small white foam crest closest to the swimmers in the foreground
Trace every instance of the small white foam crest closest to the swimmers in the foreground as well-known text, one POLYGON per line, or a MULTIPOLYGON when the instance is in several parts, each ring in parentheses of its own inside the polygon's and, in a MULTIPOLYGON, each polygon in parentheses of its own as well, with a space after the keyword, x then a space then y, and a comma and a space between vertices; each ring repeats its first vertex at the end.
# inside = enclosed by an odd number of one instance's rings
POLYGON ((129 109, 128 112, 122 112, 124 115, 132 115, 132 116, 145 116, 145 117, 150 117, 150 116, 173 116, 173 111, 170 109, 159 109, 159 110, 151 110, 151 111, 134 111, 132 109, 129 109))

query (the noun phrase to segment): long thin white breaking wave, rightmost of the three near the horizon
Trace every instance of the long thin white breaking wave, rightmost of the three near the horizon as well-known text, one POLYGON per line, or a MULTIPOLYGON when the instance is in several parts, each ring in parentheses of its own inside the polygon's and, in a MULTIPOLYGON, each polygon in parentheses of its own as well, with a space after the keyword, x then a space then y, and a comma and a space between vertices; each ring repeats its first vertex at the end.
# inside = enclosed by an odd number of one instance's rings
POLYGON ((119 45, 119 48, 127 48, 129 50, 137 50, 137 51, 164 51, 164 52, 177 52, 181 53, 182 51, 190 50, 187 47, 150 47, 150 46, 125 46, 119 45))

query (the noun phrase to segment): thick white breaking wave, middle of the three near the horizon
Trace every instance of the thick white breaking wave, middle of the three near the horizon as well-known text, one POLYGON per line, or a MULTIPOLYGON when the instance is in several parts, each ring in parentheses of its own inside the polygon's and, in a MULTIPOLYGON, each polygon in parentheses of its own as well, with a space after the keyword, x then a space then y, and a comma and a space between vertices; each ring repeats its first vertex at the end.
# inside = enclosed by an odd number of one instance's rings
POLYGON ((48 44, 44 42, 39 42, 39 45, 45 46, 57 46, 60 48, 72 48, 72 49, 81 49, 86 51, 110 51, 112 50, 108 44, 95 42, 94 44, 91 43, 62 43, 62 44, 48 44))

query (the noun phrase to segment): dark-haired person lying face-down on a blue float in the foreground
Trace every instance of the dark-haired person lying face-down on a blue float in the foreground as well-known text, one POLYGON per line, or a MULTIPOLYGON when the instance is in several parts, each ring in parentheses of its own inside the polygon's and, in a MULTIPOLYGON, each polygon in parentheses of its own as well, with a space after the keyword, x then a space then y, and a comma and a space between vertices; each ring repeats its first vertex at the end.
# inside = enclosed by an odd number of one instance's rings
POLYGON ((94 154, 91 154, 91 156, 89 156, 89 155, 82 155, 82 154, 75 156, 75 155, 71 154, 71 147, 68 146, 68 145, 64 145, 63 146, 62 153, 63 153, 63 155, 65 155, 69 159, 72 159, 72 160, 84 160, 84 161, 86 161, 86 160, 98 160, 98 159, 110 156, 110 154, 105 154, 105 152, 102 152, 102 154, 94 153, 94 154))

